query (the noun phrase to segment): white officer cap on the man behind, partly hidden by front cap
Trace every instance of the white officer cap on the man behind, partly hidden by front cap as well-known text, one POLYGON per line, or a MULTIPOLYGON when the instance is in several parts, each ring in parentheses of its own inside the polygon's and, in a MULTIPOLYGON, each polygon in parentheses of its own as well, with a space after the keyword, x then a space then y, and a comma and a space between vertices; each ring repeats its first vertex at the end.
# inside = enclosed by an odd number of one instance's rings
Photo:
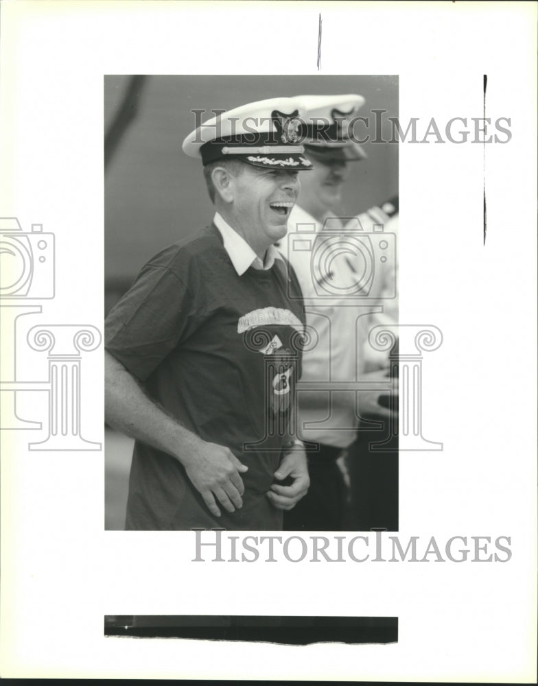
POLYGON ((367 157, 353 138, 353 123, 364 105, 362 95, 298 95, 306 108, 301 138, 308 154, 326 161, 357 161, 367 157))

